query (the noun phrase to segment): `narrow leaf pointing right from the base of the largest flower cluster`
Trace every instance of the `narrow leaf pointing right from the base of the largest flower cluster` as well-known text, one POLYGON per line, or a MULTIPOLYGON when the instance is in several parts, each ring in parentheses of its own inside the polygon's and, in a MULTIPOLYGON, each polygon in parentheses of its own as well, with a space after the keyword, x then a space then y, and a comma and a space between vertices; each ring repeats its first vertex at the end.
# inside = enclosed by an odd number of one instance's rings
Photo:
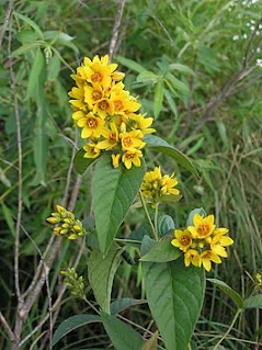
POLYGON ((198 172, 195 169, 195 167, 193 166, 190 158, 187 158, 185 155, 183 155, 179 149, 169 145, 162 138, 160 138, 158 136, 153 136, 153 135, 146 135, 144 137, 144 140, 147 144, 147 147, 157 149, 157 150, 163 153, 164 155, 175 159, 181 167, 183 167, 186 170, 191 171, 192 173, 198 176, 198 172))

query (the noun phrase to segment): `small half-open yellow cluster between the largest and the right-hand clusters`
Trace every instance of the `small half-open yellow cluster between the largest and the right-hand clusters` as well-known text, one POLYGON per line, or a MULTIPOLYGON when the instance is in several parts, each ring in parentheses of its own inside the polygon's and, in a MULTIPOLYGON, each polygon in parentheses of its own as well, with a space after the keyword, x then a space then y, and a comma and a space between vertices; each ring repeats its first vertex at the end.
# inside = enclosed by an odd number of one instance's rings
POLYGON ((163 199, 169 199, 171 195, 178 196, 180 191, 174 187, 179 181, 168 174, 162 176, 161 168, 156 167, 152 171, 147 171, 141 183, 141 192, 145 199, 150 203, 157 204, 163 199))

